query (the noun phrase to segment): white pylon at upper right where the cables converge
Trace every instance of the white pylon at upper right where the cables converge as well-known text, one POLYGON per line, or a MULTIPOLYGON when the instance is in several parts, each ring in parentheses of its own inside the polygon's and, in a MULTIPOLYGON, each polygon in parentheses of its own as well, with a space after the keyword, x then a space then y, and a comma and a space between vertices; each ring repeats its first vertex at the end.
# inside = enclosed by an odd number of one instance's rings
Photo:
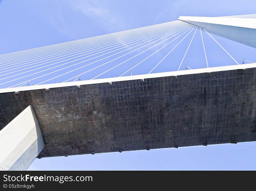
POLYGON ((178 20, 205 28, 214 35, 256 48, 256 18, 180 16, 178 20))

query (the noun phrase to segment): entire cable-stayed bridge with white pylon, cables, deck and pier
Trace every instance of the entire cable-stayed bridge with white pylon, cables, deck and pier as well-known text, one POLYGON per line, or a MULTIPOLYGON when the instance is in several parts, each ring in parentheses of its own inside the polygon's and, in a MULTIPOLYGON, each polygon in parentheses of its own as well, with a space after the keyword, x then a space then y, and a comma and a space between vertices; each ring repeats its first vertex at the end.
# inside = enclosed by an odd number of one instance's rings
POLYGON ((0 169, 26 169, 36 157, 256 141, 253 56, 237 59, 219 42, 255 49, 255 23, 256 14, 181 16, 0 55, 0 169), (211 60, 214 50, 224 63, 211 60))

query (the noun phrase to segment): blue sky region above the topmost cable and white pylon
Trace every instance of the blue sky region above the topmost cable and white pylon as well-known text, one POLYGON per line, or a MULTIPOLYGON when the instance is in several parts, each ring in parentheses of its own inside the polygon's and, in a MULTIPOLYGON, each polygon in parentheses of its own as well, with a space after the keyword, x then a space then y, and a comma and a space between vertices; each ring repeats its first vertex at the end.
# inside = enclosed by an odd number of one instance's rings
POLYGON ((181 15, 254 14, 255 4, 253 0, 1 0, 0 54, 170 22, 181 15))

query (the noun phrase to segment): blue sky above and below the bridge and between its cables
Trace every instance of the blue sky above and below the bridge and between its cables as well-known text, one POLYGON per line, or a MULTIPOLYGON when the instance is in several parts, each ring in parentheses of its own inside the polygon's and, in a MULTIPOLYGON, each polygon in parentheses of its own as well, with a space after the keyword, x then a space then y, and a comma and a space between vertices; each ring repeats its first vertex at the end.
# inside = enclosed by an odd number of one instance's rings
MULTIPOLYGON (((232 3, 230 0, 0 0, 0 54, 175 21, 179 16, 214 17, 255 14, 255 7, 256 2, 252 0, 235 0, 232 3)), ((179 49, 175 49, 176 51, 156 68, 155 72, 177 70, 180 58, 184 55, 184 52, 180 50, 186 49, 192 35, 193 32, 179 45, 179 49)), ((205 32, 203 32, 203 37, 209 67, 236 64, 205 32)), ((190 47, 193 51, 189 51, 184 60, 184 63, 189 63, 193 69, 206 67, 200 38, 200 32, 197 31, 193 40, 195 43, 192 43, 190 47)), ((214 36, 214 38, 239 63, 241 63, 239 59, 243 57, 256 61, 255 49, 221 37, 214 36)), ((148 64, 151 64, 150 67, 154 66, 166 55, 171 46, 153 57, 150 62, 135 68, 134 74, 147 72, 145 66, 148 64)), ((142 56, 134 62, 142 59, 142 56)), ((129 66, 127 65, 128 68, 129 66)), ((106 68, 97 70, 95 74, 104 69, 106 68)), ((184 65, 182 69, 185 69, 184 65)), ((119 69, 106 73, 102 77, 114 77, 119 74, 118 72, 119 69)), ((83 76, 82 80, 90 79, 93 75, 94 73, 83 76)), ((40 81, 31 81, 32 85, 37 82, 40 81)), ((51 83, 55 82, 58 81, 51 81, 51 83)), ((1 86, 1 88, 4 87, 1 86)), ((255 142, 250 142, 209 147, 42 158, 36 159, 29 169, 256 169, 255 146, 255 142)))

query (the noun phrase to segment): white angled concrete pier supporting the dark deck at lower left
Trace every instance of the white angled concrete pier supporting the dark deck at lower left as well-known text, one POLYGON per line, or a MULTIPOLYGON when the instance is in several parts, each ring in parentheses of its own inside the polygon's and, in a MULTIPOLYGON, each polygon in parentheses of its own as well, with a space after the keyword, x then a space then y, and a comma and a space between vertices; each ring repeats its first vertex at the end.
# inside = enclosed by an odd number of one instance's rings
POLYGON ((0 170, 26 170, 45 147, 32 106, 0 131, 0 170))

